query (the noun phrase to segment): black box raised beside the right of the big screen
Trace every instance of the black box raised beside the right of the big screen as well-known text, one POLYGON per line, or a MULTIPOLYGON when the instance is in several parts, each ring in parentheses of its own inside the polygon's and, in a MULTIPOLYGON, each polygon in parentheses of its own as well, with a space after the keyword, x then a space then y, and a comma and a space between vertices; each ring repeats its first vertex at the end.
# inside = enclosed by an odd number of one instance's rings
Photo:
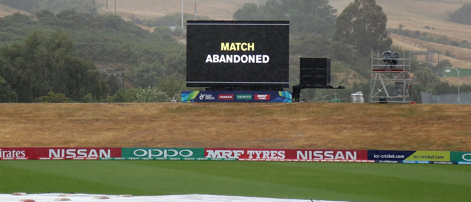
POLYGON ((300 84, 330 86, 330 58, 301 57, 300 84))

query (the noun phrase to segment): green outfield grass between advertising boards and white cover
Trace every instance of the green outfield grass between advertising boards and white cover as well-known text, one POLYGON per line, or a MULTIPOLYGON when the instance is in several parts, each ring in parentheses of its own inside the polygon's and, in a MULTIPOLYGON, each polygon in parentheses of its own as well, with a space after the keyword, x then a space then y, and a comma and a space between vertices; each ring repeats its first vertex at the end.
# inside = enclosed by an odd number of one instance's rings
POLYGON ((469 201, 471 166, 334 162, 0 161, 0 193, 218 194, 469 201))

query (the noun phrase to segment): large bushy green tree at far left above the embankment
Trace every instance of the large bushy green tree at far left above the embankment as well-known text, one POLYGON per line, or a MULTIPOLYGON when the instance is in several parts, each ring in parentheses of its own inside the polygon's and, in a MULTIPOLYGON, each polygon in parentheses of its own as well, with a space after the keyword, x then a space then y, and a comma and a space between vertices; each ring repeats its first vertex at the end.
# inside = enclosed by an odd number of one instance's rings
POLYGON ((24 43, 0 48, 0 75, 18 94, 18 102, 32 102, 53 91, 78 101, 88 93, 98 100, 109 86, 93 62, 73 52, 72 40, 62 31, 33 31, 24 43))

